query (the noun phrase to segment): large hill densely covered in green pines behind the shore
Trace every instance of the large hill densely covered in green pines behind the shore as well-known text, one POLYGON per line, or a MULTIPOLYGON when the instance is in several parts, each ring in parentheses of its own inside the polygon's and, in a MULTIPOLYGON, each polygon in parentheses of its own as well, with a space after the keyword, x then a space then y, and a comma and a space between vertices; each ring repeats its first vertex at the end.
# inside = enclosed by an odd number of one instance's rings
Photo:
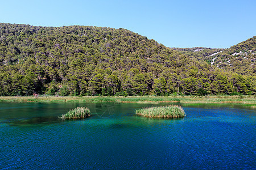
POLYGON ((0 23, 0 96, 255 94, 219 68, 127 29, 0 23))

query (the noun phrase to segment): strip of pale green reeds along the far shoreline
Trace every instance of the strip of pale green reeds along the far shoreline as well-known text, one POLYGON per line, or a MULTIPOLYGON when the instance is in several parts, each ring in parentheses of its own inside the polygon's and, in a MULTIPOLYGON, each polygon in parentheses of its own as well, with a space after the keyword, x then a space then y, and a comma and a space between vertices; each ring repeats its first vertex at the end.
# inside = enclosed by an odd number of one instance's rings
POLYGON ((256 107, 255 96, 129 96, 129 97, 53 97, 39 96, 0 96, 0 102, 24 103, 24 102, 41 102, 41 103, 58 103, 58 102, 77 102, 77 103, 181 103, 181 104, 243 104, 249 107, 256 107))

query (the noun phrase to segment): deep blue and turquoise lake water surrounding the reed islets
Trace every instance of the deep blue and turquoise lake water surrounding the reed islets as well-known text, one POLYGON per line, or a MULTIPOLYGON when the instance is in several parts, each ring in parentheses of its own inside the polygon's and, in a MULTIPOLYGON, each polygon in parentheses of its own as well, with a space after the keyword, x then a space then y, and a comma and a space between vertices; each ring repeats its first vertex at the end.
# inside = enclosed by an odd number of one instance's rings
POLYGON ((0 169, 255 169, 255 109, 184 107, 187 116, 173 120, 134 115, 151 105, 0 103, 0 169), (78 105, 93 116, 57 118, 78 105))

